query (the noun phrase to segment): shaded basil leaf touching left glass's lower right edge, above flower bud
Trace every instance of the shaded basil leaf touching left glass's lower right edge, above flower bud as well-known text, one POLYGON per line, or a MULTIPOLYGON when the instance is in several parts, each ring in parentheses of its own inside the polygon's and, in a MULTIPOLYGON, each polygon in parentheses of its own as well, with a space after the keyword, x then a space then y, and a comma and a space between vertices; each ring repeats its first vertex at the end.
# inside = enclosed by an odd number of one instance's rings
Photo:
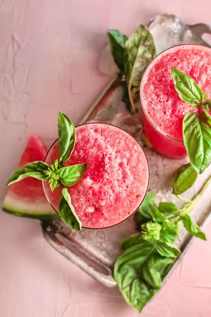
POLYGON ((135 222, 138 230, 140 230, 140 225, 142 223, 145 223, 148 220, 152 220, 152 216, 150 215, 149 204, 155 205, 156 200, 156 194, 153 191, 148 191, 146 197, 144 198, 142 204, 140 205, 138 211, 135 214, 135 222))

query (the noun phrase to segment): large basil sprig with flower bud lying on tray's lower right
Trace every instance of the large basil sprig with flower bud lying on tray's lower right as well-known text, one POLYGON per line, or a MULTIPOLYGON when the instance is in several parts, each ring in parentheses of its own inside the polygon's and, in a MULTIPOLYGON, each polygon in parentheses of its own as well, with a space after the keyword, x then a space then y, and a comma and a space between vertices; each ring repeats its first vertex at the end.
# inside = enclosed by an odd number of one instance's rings
POLYGON ((135 218, 140 233, 121 242, 124 253, 115 262, 114 278, 125 301, 139 313, 161 288, 164 276, 181 254, 173 245, 179 236, 179 222, 189 234, 206 240, 188 215, 194 204, 193 200, 182 209, 168 202, 156 206, 156 194, 148 191, 135 218))

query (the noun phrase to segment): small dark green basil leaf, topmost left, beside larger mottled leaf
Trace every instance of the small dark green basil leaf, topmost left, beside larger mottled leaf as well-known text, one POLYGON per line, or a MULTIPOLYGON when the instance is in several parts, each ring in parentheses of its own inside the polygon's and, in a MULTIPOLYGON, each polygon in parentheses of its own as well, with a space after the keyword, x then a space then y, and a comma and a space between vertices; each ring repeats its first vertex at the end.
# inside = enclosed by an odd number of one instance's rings
POLYGON ((125 41, 127 40, 127 36, 121 34, 118 30, 109 30, 108 36, 114 61, 119 69, 124 71, 125 41))

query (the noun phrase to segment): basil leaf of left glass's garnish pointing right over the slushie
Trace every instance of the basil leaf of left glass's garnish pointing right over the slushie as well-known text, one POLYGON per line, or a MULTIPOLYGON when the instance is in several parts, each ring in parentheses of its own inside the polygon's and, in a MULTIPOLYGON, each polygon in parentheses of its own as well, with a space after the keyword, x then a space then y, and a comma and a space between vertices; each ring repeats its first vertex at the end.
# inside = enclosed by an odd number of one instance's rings
POLYGON ((57 174, 64 186, 72 186, 83 177, 85 171, 86 163, 61 167, 57 170, 57 174))

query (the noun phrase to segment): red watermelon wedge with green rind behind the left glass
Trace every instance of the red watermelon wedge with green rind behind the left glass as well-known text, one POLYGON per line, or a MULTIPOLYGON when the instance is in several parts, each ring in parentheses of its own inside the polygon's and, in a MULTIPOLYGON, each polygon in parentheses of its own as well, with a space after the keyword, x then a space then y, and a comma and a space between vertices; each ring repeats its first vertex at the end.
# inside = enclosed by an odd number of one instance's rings
MULTIPOLYGON (((32 134, 28 139, 18 167, 33 161, 45 161, 46 154, 47 148, 41 138, 32 134)), ((42 181, 32 177, 24 178, 8 187, 3 210, 16 216, 40 220, 59 218, 46 199, 42 181)))

